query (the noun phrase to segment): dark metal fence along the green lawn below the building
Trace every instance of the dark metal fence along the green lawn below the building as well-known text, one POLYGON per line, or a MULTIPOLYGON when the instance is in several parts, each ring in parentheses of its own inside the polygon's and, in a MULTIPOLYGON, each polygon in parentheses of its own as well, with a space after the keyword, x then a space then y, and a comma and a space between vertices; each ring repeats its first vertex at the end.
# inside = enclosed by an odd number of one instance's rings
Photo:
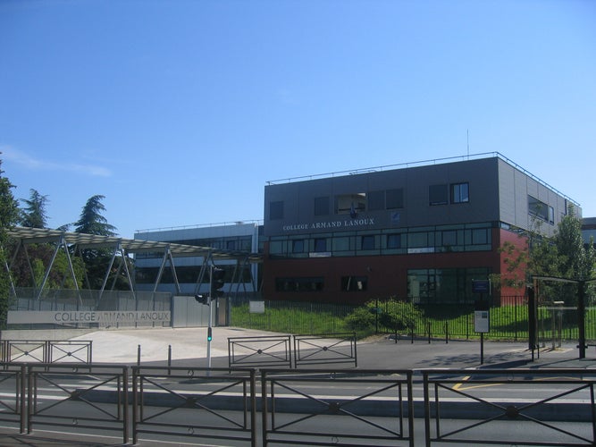
MULTIPOLYGON (((528 338, 528 308, 525 297, 501 297, 509 304, 490 311, 490 332, 495 340, 525 341, 528 338)), ((281 333, 341 333, 354 330, 347 317, 359 307, 352 304, 265 300, 264 313, 252 313, 247 300, 233 299, 230 304, 230 325, 281 333)), ((379 314, 387 312, 390 303, 378 300, 378 313, 367 331, 359 336, 387 333, 399 338, 425 338, 449 342, 451 338, 469 339, 474 333, 474 304, 420 305, 413 327, 395 333, 381 323, 379 314)), ((573 305, 543 304, 538 308, 539 339, 543 345, 578 339, 578 315, 573 305)), ((596 307, 586 308, 585 336, 596 341, 596 307)))

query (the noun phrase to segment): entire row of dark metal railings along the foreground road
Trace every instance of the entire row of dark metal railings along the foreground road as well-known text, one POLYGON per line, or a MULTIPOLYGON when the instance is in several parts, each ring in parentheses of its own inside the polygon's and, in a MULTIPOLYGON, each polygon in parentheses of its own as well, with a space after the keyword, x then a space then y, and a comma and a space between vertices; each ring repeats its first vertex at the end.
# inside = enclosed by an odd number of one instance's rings
POLYGON ((123 443, 596 444, 591 369, 0 367, 0 426, 23 443, 44 427, 65 442, 84 431, 123 443))

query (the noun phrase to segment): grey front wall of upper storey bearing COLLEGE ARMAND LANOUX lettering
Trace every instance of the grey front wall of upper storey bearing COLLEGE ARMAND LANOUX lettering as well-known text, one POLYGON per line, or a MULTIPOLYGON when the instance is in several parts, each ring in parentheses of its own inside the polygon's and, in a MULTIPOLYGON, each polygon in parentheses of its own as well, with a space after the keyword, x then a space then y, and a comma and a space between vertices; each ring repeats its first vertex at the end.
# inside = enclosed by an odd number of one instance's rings
MULTIPOLYGON (((498 221, 498 179, 497 159, 484 158, 268 185, 264 191, 264 234, 273 236, 498 221), (451 189, 457 184, 469 187, 469 201, 466 203, 452 203, 451 189), (444 205, 431 205, 429 189, 433 185, 444 186, 444 205), (348 203, 349 198, 362 195, 365 201, 372 193, 387 190, 403 191, 403 207, 374 210, 365 207, 356 209, 354 216, 346 212, 347 205, 343 208, 338 206, 341 199, 348 203), (315 198, 322 197, 329 198, 329 215, 315 215, 315 198), (283 202, 282 218, 270 218, 268 209, 272 202, 283 202)), ((357 201, 352 200, 352 203, 357 201)))

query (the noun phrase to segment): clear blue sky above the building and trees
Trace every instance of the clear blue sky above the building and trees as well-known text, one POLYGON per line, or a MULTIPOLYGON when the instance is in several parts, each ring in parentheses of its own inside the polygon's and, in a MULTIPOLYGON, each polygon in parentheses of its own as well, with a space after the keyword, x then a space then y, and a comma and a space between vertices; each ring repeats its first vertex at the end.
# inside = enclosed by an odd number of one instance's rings
POLYGON ((590 0, 0 0, 2 169, 52 228, 96 194, 125 238, 259 220, 266 181, 468 151, 596 216, 595 142, 590 0))

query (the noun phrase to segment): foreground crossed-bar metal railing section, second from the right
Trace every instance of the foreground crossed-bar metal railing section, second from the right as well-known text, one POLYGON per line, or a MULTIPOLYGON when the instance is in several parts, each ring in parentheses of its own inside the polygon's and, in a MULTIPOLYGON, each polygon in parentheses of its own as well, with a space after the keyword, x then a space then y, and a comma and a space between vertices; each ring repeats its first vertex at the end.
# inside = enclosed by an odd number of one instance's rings
POLYGON ((262 371, 263 446, 414 446, 412 374, 262 371))

